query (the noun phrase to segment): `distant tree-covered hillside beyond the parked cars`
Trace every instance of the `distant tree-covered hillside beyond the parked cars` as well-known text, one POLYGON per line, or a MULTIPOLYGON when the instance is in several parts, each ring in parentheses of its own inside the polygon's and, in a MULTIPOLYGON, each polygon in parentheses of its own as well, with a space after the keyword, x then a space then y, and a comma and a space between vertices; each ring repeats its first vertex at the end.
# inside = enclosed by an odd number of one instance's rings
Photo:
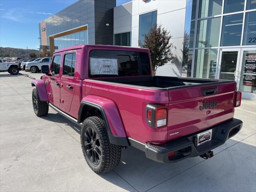
POLYGON ((38 57, 40 56, 40 51, 35 49, 18 49, 11 47, 0 47, 0 56, 2 57, 29 57, 30 53, 35 53, 38 57))

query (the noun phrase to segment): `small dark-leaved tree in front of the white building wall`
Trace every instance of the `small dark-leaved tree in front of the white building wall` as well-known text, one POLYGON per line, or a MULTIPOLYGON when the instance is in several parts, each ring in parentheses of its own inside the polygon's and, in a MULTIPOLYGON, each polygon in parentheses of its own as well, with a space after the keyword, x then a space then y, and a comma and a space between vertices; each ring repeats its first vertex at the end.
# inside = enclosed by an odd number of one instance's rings
POLYGON ((139 46, 148 48, 151 55, 153 75, 156 75, 156 69, 173 60, 172 48, 170 42, 172 38, 162 25, 152 27, 148 34, 143 34, 144 42, 139 41, 139 46))

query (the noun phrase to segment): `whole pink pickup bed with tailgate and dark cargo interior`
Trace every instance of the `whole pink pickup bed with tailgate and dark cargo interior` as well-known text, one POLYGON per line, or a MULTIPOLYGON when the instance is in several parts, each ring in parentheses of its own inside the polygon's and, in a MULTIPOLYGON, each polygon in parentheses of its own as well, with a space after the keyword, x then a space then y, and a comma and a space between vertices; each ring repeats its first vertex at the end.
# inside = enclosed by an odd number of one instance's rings
POLYGON ((234 115, 236 82, 230 80, 140 76, 86 79, 84 84, 89 94, 114 100, 128 137, 143 143, 202 132, 234 115), (218 106, 200 110, 203 102, 216 102, 218 106), (159 132, 146 128, 146 104, 168 106, 166 129, 159 132))

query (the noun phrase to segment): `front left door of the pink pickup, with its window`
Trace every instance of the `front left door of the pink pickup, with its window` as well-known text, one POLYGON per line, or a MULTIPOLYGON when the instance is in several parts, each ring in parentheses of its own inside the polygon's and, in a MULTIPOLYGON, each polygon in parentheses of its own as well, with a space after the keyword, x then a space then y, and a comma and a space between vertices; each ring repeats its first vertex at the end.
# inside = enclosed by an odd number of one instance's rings
POLYGON ((60 64, 62 60, 61 54, 56 54, 53 57, 51 65, 51 76, 50 76, 50 86, 47 86, 47 93, 49 101, 54 104, 54 106, 60 106, 60 64))

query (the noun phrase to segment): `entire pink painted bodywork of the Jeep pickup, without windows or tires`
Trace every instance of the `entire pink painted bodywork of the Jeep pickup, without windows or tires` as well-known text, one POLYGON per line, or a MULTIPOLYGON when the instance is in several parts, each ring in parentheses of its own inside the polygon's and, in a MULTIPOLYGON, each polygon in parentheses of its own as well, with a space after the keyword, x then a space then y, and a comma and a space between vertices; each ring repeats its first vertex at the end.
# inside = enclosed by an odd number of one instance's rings
MULTIPOLYGON (((104 82, 104 78, 88 77, 91 50, 140 51, 149 54, 149 51, 143 48, 103 45, 81 45, 57 50, 54 56, 61 56, 60 74, 44 75, 42 80, 35 81, 40 89, 40 98, 49 100, 54 106, 74 118, 78 118, 82 100, 98 104, 104 109, 114 136, 130 137, 142 143, 164 144, 168 140, 220 124, 234 115, 235 82, 217 84, 218 92, 212 96, 202 95, 201 88, 204 88, 204 84, 170 90, 113 84, 104 82), (64 55, 70 52, 76 52, 74 77, 63 75, 64 55), (47 94, 44 81, 47 85, 47 94), (55 85, 57 82, 60 86, 55 85), (73 89, 68 90, 66 88, 68 85, 72 85, 73 89), (200 110, 203 101, 212 100, 218 101, 216 108, 200 110), (155 129, 147 124, 146 106, 148 104, 168 107, 167 126, 155 129)), ((151 66, 151 61, 149 65, 151 66)), ((151 75, 144 77, 151 76, 152 67, 151 75)), ((115 78, 131 77, 112 79, 115 78)))

